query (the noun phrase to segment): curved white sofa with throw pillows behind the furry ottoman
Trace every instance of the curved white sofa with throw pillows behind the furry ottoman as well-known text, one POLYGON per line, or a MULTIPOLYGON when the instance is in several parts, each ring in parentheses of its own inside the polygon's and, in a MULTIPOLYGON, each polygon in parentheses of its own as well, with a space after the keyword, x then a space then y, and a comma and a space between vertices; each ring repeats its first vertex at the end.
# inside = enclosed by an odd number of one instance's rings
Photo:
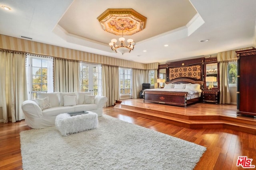
POLYGON ((102 116, 102 107, 107 102, 104 96, 92 96, 91 92, 38 93, 38 99, 22 103, 25 122, 29 127, 41 129, 55 125, 61 113, 92 111, 102 116))

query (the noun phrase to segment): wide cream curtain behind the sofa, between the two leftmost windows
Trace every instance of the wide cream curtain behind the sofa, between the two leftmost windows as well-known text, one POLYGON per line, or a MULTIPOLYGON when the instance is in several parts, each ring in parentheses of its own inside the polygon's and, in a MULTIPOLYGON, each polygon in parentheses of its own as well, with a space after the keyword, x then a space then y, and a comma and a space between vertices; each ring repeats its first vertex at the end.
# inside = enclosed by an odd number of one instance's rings
POLYGON ((54 59, 54 92, 80 92, 80 63, 54 59))

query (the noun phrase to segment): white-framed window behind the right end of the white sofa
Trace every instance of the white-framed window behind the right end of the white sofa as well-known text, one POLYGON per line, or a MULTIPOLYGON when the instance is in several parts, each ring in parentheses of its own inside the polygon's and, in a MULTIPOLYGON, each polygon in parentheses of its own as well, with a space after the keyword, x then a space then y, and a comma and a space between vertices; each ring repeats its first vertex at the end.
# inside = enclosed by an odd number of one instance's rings
POLYGON ((81 63, 80 65, 80 90, 93 92, 93 95, 102 96, 101 65, 81 63))

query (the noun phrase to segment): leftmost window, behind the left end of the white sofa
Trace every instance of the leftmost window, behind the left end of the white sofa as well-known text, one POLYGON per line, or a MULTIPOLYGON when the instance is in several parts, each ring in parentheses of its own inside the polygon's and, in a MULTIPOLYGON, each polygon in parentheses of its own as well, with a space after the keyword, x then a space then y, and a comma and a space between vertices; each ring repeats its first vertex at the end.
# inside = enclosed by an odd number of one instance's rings
POLYGON ((37 98, 38 92, 53 92, 53 59, 27 55, 26 76, 28 98, 37 98))

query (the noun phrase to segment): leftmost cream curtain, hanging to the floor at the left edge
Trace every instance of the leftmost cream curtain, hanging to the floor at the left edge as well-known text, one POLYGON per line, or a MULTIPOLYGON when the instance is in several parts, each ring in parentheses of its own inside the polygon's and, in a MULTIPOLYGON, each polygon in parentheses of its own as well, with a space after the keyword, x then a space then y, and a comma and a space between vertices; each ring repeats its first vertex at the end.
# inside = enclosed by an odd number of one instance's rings
POLYGON ((26 84, 26 54, 0 50, 0 107, 4 123, 24 119, 22 102, 28 99, 26 84))

